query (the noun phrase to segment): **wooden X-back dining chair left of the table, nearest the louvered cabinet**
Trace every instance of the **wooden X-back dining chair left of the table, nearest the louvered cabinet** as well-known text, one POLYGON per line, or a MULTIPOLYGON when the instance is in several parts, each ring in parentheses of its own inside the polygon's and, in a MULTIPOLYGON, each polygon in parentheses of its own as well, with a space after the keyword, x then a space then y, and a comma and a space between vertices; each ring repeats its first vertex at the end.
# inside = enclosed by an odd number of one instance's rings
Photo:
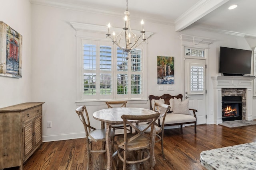
MULTIPOLYGON (((84 125, 85 135, 86 135, 86 148, 87 148, 87 170, 89 170, 89 163, 91 159, 91 153, 104 153, 106 152, 105 148, 98 150, 92 149, 92 142, 103 142, 105 147, 106 144, 106 129, 96 129, 90 126, 90 120, 88 116, 88 112, 85 106, 80 106, 76 109, 76 113, 78 117, 82 121, 84 125), (84 118, 84 113, 86 115, 86 119, 84 118)), ((114 131, 111 130, 110 136, 112 141, 114 140, 114 131)))

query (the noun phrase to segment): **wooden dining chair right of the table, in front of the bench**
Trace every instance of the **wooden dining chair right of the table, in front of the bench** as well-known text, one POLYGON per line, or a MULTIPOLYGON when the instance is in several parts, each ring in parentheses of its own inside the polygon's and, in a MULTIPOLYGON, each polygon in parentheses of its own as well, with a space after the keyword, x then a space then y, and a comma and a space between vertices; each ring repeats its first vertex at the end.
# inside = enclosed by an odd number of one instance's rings
MULTIPOLYGON (((160 123, 155 123, 155 128, 156 128, 156 141, 155 143, 157 142, 160 142, 161 141, 161 148, 162 148, 162 156, 163 158, 165 159, 165 155, 164 155, 164 120, 165 120, 165 117, 166 117, 166 114, 167 112, 170 110, 170 105, 167 105, 167 104, 159 104, 158 102, 156 102, 154 104, 154 107, 153 107, 154 110, 158 111, 158 113, 160 113, 160 117, 159 117, 159 121, 162 122, 162 124, 160 123), (161 133, 161 136, 159 135, 159 133, 161 133)), ((170 113, 171 114, 171 113, 170 113)), ((136 125, 136 127, 140 130, 143 130, 147 127, 147 125, 145 124, 140 124, 140 125, 136 125)), ((150 133, 150 129, 147 129, 146 130, 147 133, 150 133)))

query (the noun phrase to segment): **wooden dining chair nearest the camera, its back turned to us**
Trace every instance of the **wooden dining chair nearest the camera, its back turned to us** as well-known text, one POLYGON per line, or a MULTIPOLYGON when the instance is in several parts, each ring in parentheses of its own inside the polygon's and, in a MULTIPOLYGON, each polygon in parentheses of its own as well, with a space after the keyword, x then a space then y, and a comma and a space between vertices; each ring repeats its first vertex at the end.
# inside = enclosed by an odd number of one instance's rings
POLYGON ((118 145, 118 157, 123 162, 123 170, 126 169, 126 164, 142 163, 150 160, 150 168, 154 169, 154 140, 155 140, 155 128, 154 123, 159 118, 160 113, 151 115, 122 115, 124 123, 124 135, 116 137, 116 143, 118 145), (140 122, 147 122, 147 127, 140 130, 134 124, 130 123, 131 120, 140 122), (127 134, 126 125, 130 125, 136 133, 127 134), (147 130, 150 129, 150 133, 147 130), (138 159, 127 159, 127 152, 138 151, 138 159), (142 154, 141 154, 142 153, 142 154), (145 157, 146 153, 146 157, 145 157))

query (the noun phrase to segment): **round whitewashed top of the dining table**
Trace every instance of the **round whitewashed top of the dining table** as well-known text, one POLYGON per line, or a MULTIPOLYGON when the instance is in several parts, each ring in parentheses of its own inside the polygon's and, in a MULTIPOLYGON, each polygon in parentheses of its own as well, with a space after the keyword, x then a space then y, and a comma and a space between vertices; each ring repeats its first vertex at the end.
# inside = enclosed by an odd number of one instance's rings
POLYGON ((96 120, 108 123, 123 123, 122 115, 150 115, 156 113, 150 109, 137 107, 115 107, 95 111, 93 117, 96 120))

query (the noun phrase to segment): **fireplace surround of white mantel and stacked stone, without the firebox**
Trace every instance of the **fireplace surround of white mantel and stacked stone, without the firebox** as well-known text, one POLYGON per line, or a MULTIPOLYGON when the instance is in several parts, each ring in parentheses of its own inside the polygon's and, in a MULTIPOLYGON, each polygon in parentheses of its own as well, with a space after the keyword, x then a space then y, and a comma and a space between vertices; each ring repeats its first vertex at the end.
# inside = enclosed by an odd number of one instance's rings
POLYGON ((214 124, 218 125, 223 121, 223 96, 241 96, 242 119, 252 120, 252 80, 254 78, 246 76, 212 76, 214 86, 214 124))

